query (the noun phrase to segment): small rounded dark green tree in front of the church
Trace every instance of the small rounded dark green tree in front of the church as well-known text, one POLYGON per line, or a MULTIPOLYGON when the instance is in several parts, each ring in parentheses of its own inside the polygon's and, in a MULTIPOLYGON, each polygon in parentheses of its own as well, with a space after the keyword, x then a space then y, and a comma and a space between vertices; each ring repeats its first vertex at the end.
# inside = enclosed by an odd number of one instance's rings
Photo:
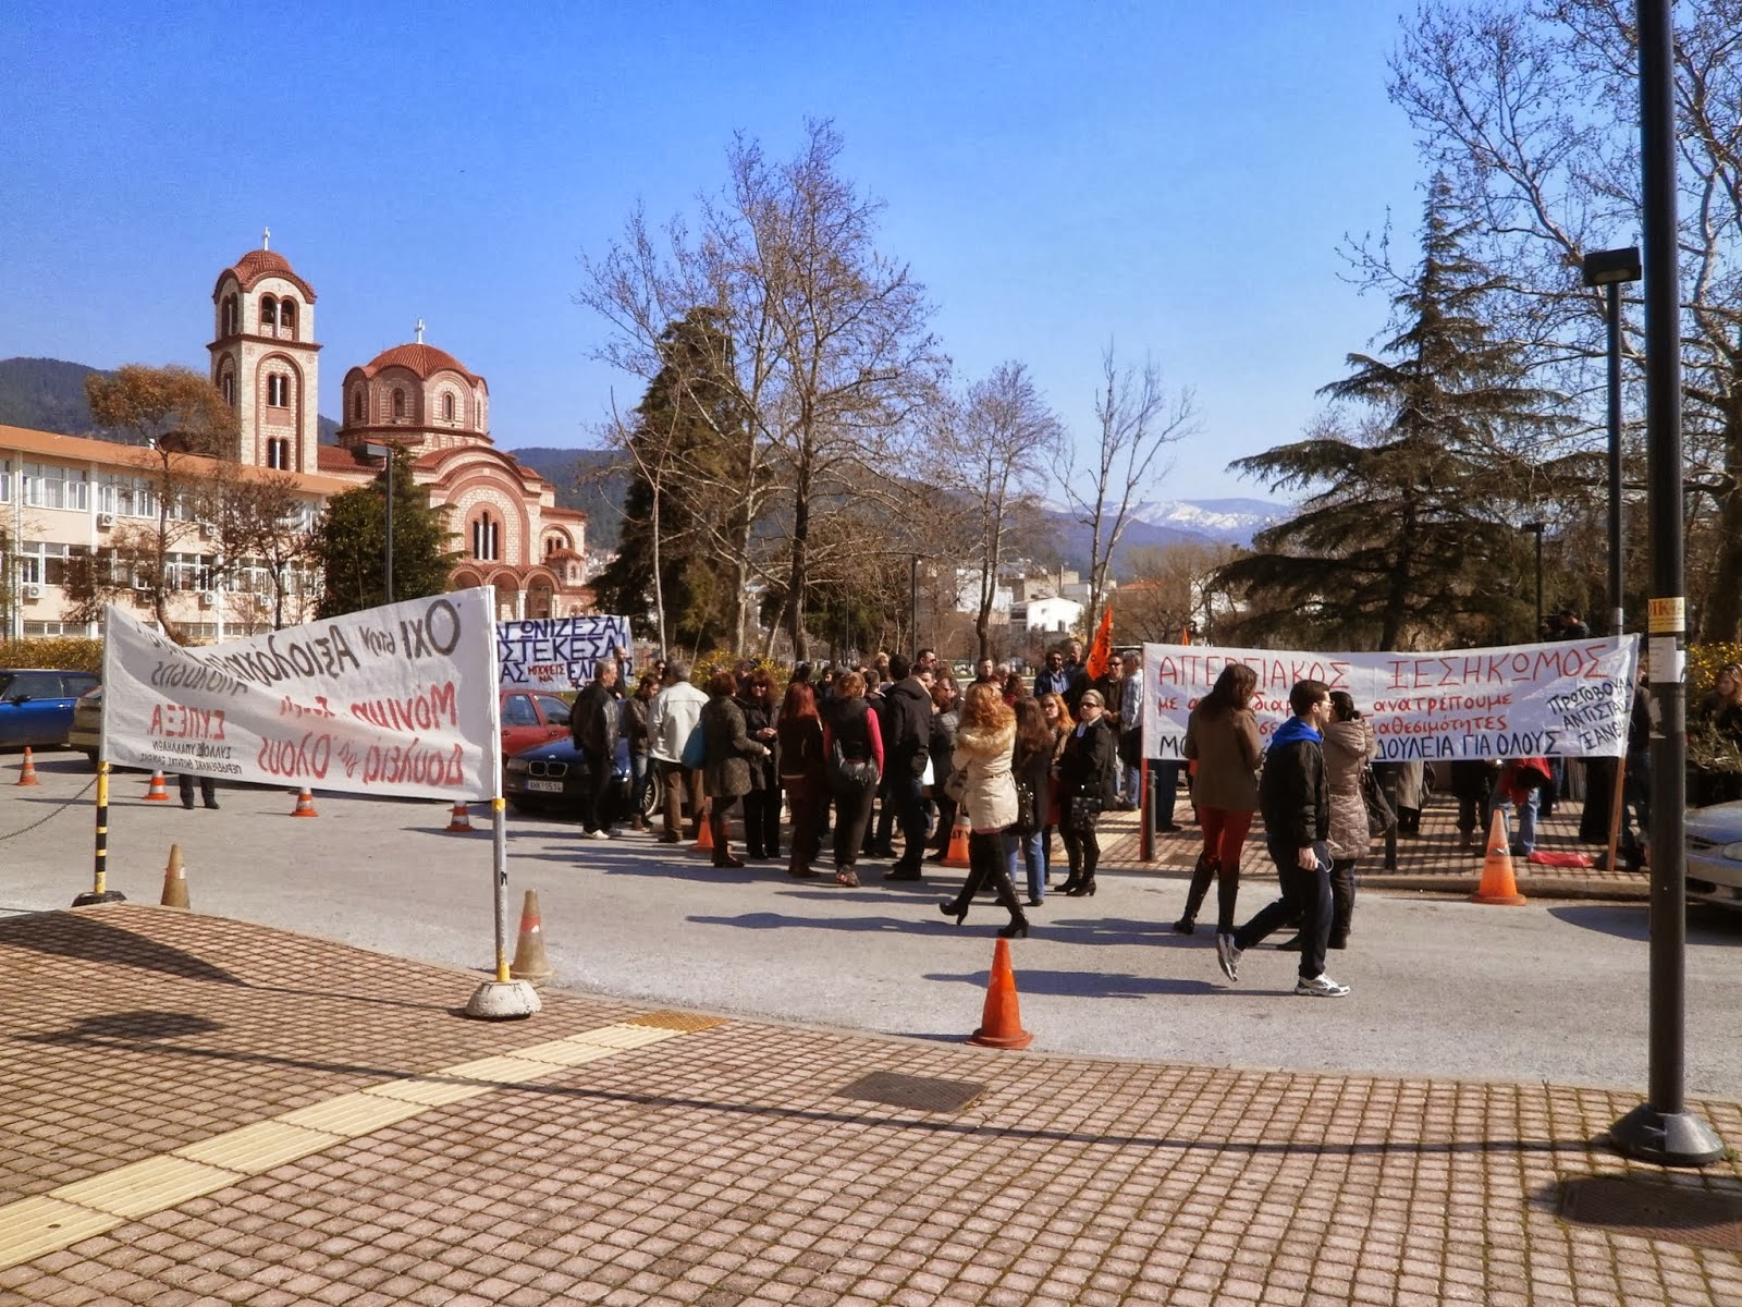
MULTIPOLYGON (((449 532, 441 509, 411 477, 404 450, 394 455, 394 601, 420 599, 448 589, 458 561, 449 552, 449 532)), ((327 500, 315 533, 315 558, 324 586, 315 617, 338 617, 387 603, 387 469, 368 486, 327 500)))

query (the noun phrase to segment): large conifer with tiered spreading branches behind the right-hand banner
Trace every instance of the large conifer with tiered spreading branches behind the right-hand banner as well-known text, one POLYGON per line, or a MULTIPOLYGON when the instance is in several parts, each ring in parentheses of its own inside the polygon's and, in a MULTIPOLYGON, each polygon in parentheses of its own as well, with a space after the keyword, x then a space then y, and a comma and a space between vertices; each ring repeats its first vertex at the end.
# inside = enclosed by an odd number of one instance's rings
POLYGON ((1481 315, 1489 279, 1465 253, 1470 230, 1435 178, 1387 357, 1352 354, 1354 371, 1320 390, 1366 406, 1366 425, 1327 422, 1233 464, 1272 490, 1310 491, 1219 572, 1249 598, 1244 638, 1399 648, 1535 627, 1516 521, 1531 500, 1533 446, 1561 418, 1481 315))

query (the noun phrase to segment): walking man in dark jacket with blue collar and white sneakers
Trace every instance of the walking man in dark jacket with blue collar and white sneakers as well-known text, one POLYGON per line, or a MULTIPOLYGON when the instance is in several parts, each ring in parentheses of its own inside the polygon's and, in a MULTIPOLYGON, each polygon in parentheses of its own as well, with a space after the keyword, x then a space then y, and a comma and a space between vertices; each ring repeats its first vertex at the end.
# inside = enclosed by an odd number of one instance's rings
POLYGON ((1348 993, 1324 974, 1331 939, 1331 784, 1324 770, 1324 727, 1331 720, 1331 687, 1296 681, 1289 690, 1294 711, 1270 737, 1265 770, 1258 777, 1258 809, 1265 814, 1265 842, 1277 864, 1282 897, 1265 906, 1233 934, 1216 936, 1216 960, 1228 979, 1239 979, 1240 953, 1279 925, 1301 924, 1301 965, 1294 993, 1340 999, 1348 993))

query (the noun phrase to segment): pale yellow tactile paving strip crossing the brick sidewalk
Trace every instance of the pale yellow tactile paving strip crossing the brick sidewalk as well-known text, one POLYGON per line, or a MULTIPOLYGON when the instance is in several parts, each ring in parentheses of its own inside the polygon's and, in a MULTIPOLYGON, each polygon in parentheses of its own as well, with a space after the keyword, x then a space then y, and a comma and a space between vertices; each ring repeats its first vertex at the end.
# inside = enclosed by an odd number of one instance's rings
POLYGON ((432 1108, 716 1025, 721 1023, 714 1018, 650 1012, 423 1075, 373 1084, 61 1185, 49 1194, 9 1202, 0 1206, 0 1270, 71 1248, 124 1222, 167 1211, 432 1108))

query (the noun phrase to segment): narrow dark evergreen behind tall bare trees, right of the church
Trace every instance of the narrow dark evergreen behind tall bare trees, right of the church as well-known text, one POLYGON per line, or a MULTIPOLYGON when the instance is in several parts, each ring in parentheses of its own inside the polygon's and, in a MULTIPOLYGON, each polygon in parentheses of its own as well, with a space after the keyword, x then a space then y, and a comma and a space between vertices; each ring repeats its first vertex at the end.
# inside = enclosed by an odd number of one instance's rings
POLYGON ((617 558, 592 586, 606 612, 653 612, 660 645, 712 648, 735 638, 730 579, 711 540, 730 530, 723 486, 744 477, 749 439, 732 382, 732 340, 692 308, 660 336, 660 371, 622 444, 631 460, 617 558))

